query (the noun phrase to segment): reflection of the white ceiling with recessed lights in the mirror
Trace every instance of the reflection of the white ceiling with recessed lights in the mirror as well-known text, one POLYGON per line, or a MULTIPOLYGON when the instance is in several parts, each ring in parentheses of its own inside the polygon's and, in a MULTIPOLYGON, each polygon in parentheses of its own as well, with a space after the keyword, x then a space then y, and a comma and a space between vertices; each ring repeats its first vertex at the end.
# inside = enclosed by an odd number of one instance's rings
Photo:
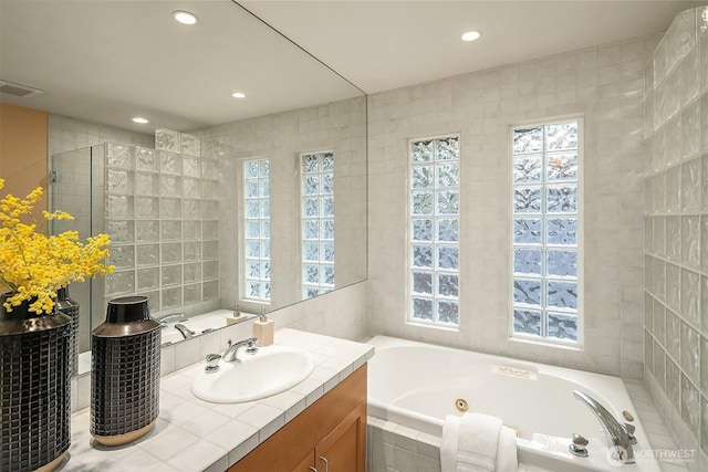
POLYGON ((3 102, 147 133, 361 94, 230 0, 0 0, 0 78, 44 91, 3 102))

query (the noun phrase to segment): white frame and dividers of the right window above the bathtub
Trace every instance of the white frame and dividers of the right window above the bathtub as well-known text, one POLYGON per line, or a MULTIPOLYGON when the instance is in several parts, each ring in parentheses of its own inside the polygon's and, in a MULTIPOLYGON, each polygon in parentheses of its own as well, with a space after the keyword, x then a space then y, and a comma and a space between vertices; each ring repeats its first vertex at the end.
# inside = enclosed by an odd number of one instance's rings
MULTIPOLYGON (((544 133, 544 144, 545 144, 545 133, 544 133)), ((542 167, 542 197, 541 197, 541 219, 542 219, 542 228, 541 228, 541 233, 542 233, 542 260, 543 260, 543 266, 545 266, 546 262, 545 262, 545 251, 546 249, 551 248, 554 249, 556 248, 555 245, 549 245, 546 244, 545 238, 546 238, 546 229, 545 229, 545 218, 546 218, 546 204, 545 204, 545 199, 546 199, 546 192, 545 192, 545 188, 546 185, 553 186, 556 185, 554 182, 551 183, 546 183, 545 180, 545 176, 544 176, 544 171, 545 171, 545 149, 542 150, 543 153, 543 157, 542 157, 542 161, 543 161, 543 167, 542 167)), ((560 348, 570 348, 570 349, 577 349, 577 350, 582 350, 583 346, 584 346, 584 326, 585 326, 585 311, 584 311, 584 300, 585 300, 585 293, 584 293, 584 240, 583 240, 583 227, 584 227, 584 212, 585 212, 585 204, 584 204, 584 120, 582 116, 577 116, 577 115, 571 115, 571 116, 562 116, 562 117, 556 117, 556 118, 551 118, 551 119, 545 119, 545 120, 539 120, 539 122, 530 122, 530 123, 520 123, 520 124, 514 124, 511 125, 509 127, 509 153, 508 153, 508 159, 509 159, 509 166, 510 166, 510 171, 509 171, 509 198, 510 198, 510 204, 508 208, 509 211, 509 269, 508 269, 508 273, 509 273, 509 312, 508 312, 508 329, 509 329, 509 338, 511 340, 518 340, 518 342, 530 342, 533 344, 542 344, 542 345, 548 345, 548 346, 552 346, 552 347, 560 347, 560 348), (577 211, 576 211, 576 218, 577 218, 577 224, 576 224, 576 249, 577 251, 577 276, 576 276, 576 286, 577 286, 577 310, 576 310, 576 315, 577 315, 577 340, 574 342, 572 339, 562 339, 562 338, 554 338, 554 337, 549 337, 548 336, 548 322, 546 322, 546 312, 549 311, 549 307, 545 303, 545 293, 544 293, 544 287, 545 287, 545 281, 548 280, 548 275, 542 274, 541 275, 541 307, 540 308, 533 308, 531 305, 528 305, 527 307, 531 308, 531 310, 540 310, 542 313, 542 317, 541 317, 541 336, 535 336, 535 335, 531 335, 531 334, 524 334, 524 333, 514 333, 514 327, 513 327, 513 322, 514 322, 514 248, 519 248, 519 247, 523 247, 523 244, 514 244, 514 218, 519 218, 519 216, 523 216, 523 213, 516 213, 513 212, 513 203, 514 203, 514 182, 513 182, 513 169, 514 169, 514 164, 513 164, 513 158, 514 158, 514 153, 513 153, 513 135, 514 135, 514 130, 516 129, 520 129, 520 128, 532 128, 532 127, 539 127, 539 126, 548 126, 548 125, 556 125, 556 124, 563 124, 563 123, 569 123, 569 122, 576 122, 577 123, 577 178, 576 178, 576 185, 577 185, 577 195, 576 195, 576 201, 577 201, 577 211)), ((562 183, 563 181, 559 181, 558 183, 562 183)), ((532 213, 533 214, 533 213, 532 213)), ((568 247, 559 247, 559 248, 568 248, 568 247)), ((551 280, 562 280, 559 277, 553 277, 551 276, 551 280)), ((520 306, 520 304, 517 304, 516 306, 520 306)), ((550 311, 552 312, 556 312, 556 313, 563 313, 563 310, 561 308, 556 308, 556 307, 551 307, 550 311)))

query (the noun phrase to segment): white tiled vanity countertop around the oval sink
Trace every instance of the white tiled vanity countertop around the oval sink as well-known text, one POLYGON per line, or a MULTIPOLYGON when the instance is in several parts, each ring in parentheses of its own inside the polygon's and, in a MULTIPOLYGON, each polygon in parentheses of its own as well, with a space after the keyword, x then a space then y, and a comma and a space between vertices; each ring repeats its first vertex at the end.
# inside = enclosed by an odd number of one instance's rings
POLYGON ((374 355, 367 344, 290 328, 275 332, 275 344, 312 354, 310 377, 261 400, 210 403, 191 394, 191 381, 205 366, 194 364, 162 378, 157 424, 131 444, 96 443, 88 431, 88 409, 73 413, 69 460, 56 470, 223 472, 374 355))

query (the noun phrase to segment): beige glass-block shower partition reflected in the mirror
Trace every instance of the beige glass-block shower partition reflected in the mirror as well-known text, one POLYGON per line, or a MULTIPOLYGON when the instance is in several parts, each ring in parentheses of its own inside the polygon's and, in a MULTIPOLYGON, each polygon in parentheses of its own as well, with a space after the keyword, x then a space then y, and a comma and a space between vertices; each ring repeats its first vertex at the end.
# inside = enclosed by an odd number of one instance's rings
MULTIPOLYGON (((191 135, 160 129, 156 149, 105 144, 105 302, 146 295, 150 311, 219 302, 218 161, 191 135)), ((198 311, 198 310, 197 310, 198 311)))

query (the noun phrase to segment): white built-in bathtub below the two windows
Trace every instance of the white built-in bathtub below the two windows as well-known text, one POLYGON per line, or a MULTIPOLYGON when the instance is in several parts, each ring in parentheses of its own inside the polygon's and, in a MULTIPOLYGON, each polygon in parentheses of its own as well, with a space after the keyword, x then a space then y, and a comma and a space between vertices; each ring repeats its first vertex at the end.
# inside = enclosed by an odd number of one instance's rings
POLYGON ((518 431, 517 452, 523 464, 560 472, 660 470, 620 378, 385 336, 368 343, 376 349, 368 363, 373 418, 439 438, 446 416, 461 415, 458 407, 467 406, 518 431), (576 389, 617 420, 625 421, 624 410, 635 417, 636 463, 621 465, 608 459, 601 424, 573 397, 576 389), (587 458, 569 452, 573 433, 590 440, 587 458))

